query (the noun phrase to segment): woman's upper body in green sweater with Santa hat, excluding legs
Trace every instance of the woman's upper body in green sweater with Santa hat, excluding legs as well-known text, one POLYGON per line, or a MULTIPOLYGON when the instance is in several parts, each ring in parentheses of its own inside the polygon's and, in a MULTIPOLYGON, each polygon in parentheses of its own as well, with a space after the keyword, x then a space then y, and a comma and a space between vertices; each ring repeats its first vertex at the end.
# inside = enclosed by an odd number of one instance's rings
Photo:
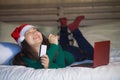
POLYGON ((50 34, 48 39, 32 25, 23 24, 16 28, 11 36, 21 46, 21 51, 14 57, 14 65, 38 68, 62 68, 74 62, 69 52, 63 51, 58 44, 58 37, 50 34), (47 53, 39 57, 39 48, 47 45, 47 53))

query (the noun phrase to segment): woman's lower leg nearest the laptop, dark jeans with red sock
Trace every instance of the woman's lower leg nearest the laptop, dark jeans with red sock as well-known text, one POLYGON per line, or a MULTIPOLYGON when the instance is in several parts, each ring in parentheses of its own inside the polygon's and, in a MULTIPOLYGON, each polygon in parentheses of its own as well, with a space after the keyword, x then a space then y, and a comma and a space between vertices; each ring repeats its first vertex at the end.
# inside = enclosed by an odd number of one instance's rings
POLYGON ((93 47, 90 45, 90 43, 85 39, 85 37, 78 29, 79 23, 81 22, 82 19, 84 19, 84 16, 78 16, 75 19, 75 21, 69 25, 68 28, 73 33, 73 37, 77 41, 79 48, 85 52, 86 58, 93 59, 93 47))

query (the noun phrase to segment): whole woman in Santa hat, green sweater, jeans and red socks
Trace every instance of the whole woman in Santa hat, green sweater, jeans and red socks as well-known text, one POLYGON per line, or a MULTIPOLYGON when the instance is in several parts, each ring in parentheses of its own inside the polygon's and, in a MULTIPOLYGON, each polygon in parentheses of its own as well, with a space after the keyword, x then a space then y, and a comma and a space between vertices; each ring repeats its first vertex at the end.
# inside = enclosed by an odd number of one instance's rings
POLYGON ((23 24, 16 28, 11 35, 21 46, 21 52, 15 56, 13 64, 36 69, 62 68, 70 65, 74 61, 92 60, 93 47, 78 29, 82 19, 84 19, 84 16, 78 16, 73 23, 67 26, 67 19, 60 18, 61 30, 59 42, 58 36, 50 34, 46 38, 33 25, 23 24), (69 44, 67 29, 73 33, 79 48, 69 44), (39 48, 42 44, 47 45, 47 53, 39 57, 39 48))

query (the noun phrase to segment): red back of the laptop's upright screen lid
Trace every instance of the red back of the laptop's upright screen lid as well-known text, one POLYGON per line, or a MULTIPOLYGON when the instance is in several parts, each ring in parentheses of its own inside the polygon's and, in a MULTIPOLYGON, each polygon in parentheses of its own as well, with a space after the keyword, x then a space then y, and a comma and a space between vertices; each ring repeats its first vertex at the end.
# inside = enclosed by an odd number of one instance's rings
POLYGON ((110 56, 110 41, 101 41, 94 44, 93 67, 107 65, 110 56))

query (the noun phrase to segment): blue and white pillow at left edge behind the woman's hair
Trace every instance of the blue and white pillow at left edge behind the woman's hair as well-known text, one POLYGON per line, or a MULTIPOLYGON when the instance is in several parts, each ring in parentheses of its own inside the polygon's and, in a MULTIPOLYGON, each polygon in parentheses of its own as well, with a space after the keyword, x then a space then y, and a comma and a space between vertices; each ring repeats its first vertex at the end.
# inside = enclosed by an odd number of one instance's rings
POLYGON ((0 42, 0 64, 9 65, 12 58, 20 51, 20 46, 9 42, 0 42))

